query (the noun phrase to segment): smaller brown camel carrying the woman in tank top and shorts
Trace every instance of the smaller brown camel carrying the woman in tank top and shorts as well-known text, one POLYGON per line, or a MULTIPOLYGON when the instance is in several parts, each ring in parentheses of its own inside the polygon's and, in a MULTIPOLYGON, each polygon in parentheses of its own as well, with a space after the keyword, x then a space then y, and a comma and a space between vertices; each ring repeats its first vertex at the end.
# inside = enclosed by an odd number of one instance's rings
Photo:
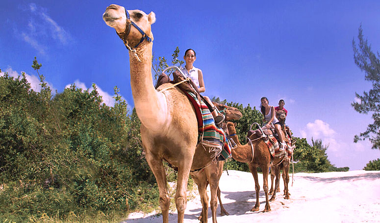
MULTIPOLYGON (((256 203, 254 207, 251 209, 251 211, 258 211, 260 207, 259 202, 259 191, 260 191, 260 185, 258 184, 258 175, 257 175, 257 167, 261 167, 262 173, 269 173, 269 166, 271 165, 271 153, 265 143, 264 138, 259 138, 257 140, 254 140, 254 134, 250 137, 251 143, 247 143, 245 145, 241 145, 239 142, 239 138, 236 135, 236 129, 235 125, 231 122, 227 123, 227 131, 230 136, 230 138, 236 143, 236 148, 231 150, 232 158, 234 158, 236 161, 248 163, 248 166, 251 170, 251 173, 254 178, 254 188, 256 192, 256 203), (252 144, 252 147, 251 147, 252 144)), ((274 158, 273 159, 273 165, 278 165, 281 163, 282 158, 274 158)), ((277 173, 277 172, 276 172, 277 173)), ((278 178, 276 179, 276 187, 275 190, 277 190, 279 183, 277 183, 278 178)), ((268 174, 263 174, 263 189, 265 193, 265 208, 263 212, 271 211, 271 207, 269 204, 269 197, 268 197, 268 174)), ((272 196, 271 201, 275 199, 275 193, 274 196, 272 196)))

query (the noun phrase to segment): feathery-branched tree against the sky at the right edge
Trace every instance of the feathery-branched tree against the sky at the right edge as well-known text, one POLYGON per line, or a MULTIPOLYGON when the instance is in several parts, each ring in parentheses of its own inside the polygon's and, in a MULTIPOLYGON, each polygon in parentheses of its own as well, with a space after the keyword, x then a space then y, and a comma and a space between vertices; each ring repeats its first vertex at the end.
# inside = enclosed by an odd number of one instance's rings
POLYGON ((360 135, 355 135, 354 142, 368 139, 372 143, 372 149, 380 149, 380 54, 377 56, 368 45, 367 39, 364 39, 363 29, 359 26, 358 34, 359 43, 356 45, 353 40, 355 64, 365 73, 365 80, 371 81, 373 89, 369 92, 363 92, 363 95, 355 93, 359 102, 353 102, 351 105, 359 113, 372 113, 373 124, 369 124, 367 130, 360 135))

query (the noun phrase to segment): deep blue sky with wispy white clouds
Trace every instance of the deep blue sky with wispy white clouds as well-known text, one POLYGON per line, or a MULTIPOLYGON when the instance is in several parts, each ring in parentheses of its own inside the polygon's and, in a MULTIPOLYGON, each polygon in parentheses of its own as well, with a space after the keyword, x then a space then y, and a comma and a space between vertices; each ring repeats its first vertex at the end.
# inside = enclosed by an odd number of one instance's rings
POLYGON ((355 112, 355 92, 371 88, 353 59, 361 24, 372 49, 380 49, 380 1, 47 1, 1 0, 0 68, 27 74, 34 56, 52 89, 96 83, 107 105, 113 88, 133 107, 129 58, 115 30, 102 20, 111 4, 156 14, 153 54, 171 58, 178 46, 197 53, 205 95, 250 104, 265 96, 285 100, 287 124, 297 137, 329 144, 337 167, 362 169, 380 157, 368 141, 353 143, 370 115, 355 112))

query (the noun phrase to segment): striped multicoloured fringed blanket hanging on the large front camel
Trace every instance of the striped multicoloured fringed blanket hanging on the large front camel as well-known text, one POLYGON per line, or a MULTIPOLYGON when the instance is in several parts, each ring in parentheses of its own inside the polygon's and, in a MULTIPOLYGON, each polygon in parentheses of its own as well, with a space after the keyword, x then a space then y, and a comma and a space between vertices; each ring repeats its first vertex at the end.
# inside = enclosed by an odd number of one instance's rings
POLYGON ((214 152, 213 157, 217 160, 225 160, 231 155, 231 149, 228 146, 226 135, 223 129, 218 128, 215 125, 214 118, 207 105, 202 101, 201 103, 197 99, 197 97, 191 93, 186 92, 190 95, 198 105, 202 113, 203 124, 198 124, 198 135, 199 141, 203 146, 206 146, 209 149, 209 152, 214 152))

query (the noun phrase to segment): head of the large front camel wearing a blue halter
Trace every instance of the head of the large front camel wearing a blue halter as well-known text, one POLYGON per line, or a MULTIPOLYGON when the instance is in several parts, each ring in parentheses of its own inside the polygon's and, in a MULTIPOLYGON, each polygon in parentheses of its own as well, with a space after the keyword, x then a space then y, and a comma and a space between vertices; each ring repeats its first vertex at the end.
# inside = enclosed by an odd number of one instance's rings
POLYGON ((111 4, 105 9, 103 20, 107 25, 115 28, 119 36, 123 35, 126 38, 123 41, 128 41, 130 46, 137 45, 143 35, 135 25, 153 40, 151 25, 156 21, 154 12, 147 15, 141 10, 126 10, 123 6, 111 4), (129 20, 127 19, 127 12, 129 20))

